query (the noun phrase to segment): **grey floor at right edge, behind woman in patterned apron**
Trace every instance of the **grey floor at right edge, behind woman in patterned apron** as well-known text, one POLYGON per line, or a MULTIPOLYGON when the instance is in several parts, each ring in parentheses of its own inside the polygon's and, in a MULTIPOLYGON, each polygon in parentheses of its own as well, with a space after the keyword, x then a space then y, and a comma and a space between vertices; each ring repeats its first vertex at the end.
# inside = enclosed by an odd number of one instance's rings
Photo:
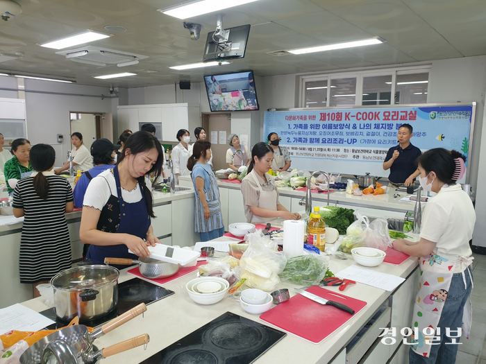
POLYGON ((456 363, 486 364, 486 255, 474 254, 473 324, 469 339, 461 338, 456 363))

